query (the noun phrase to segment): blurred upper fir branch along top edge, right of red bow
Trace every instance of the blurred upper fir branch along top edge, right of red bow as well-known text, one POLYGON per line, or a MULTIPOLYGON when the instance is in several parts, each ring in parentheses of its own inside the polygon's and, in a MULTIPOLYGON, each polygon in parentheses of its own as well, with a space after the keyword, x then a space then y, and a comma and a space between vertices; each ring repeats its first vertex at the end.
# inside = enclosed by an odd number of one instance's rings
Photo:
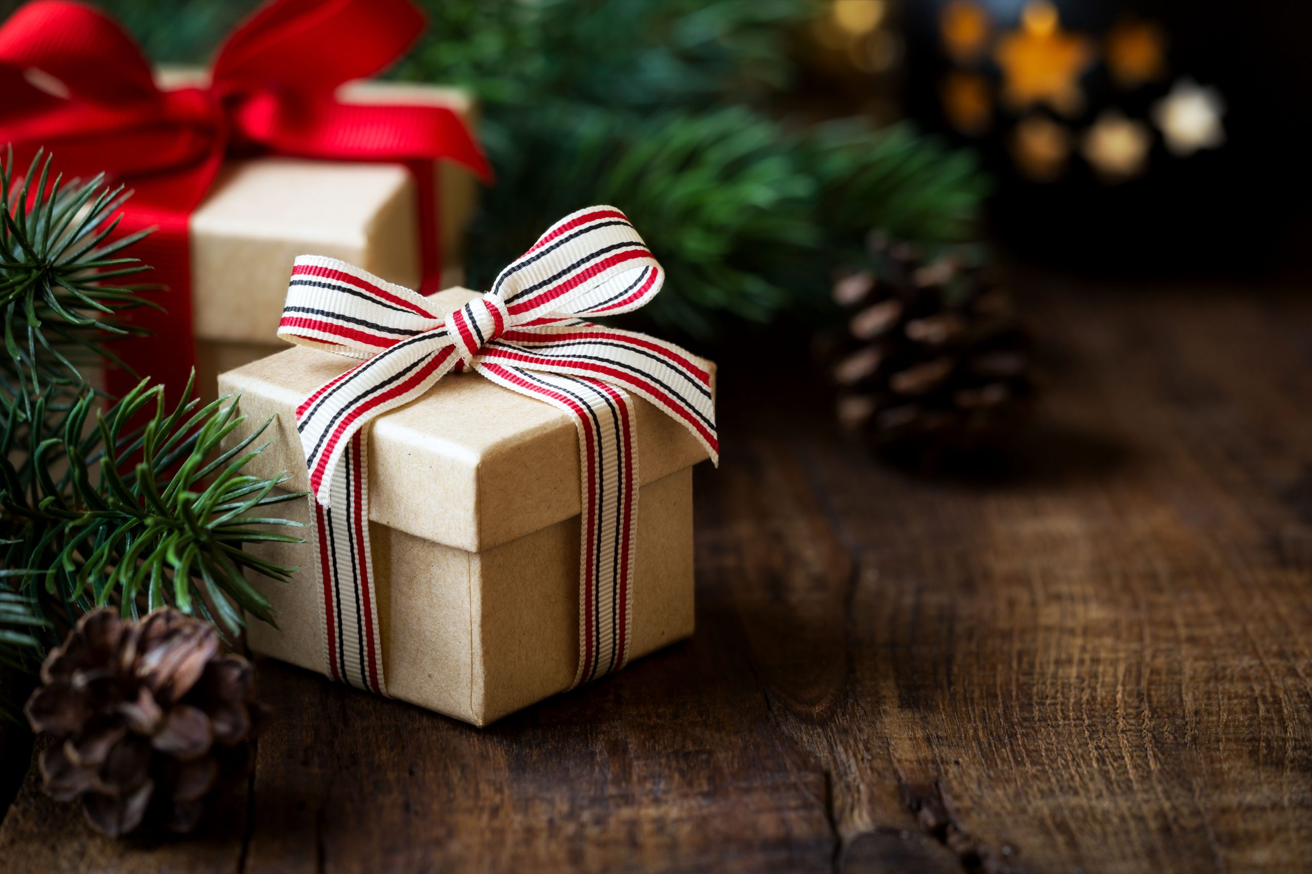
POLYGON ((787 28, 820 9, 816 0, 425 5, 430 26, 391 75, 472 90, 487 107, 483 132, 492 140, 502 119, 526 111, 702 110, 726 94, 744 100, 785 89, 794 79, 787 28))

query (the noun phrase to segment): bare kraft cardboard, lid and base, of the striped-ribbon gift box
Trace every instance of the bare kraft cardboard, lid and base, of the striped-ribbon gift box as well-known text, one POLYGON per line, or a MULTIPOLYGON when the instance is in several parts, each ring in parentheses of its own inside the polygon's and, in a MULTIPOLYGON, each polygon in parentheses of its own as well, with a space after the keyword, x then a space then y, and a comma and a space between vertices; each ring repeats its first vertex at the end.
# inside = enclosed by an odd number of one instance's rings
MULTIPOLYGON (((443 312, 476 297, 430 297, 443 312)), ((356 362, 290 349, 223 373, 247 417, 240 440, 273 419, 248 466, 308 489, 295 409, 356 362)), ((707 453, 669 415, 638 405, 639 512, 632 580, 632 655, 693 633, 691 465, 707 453)), ((569 688, 579 664, 579 434, 560 410, 478 375, 450 375, 420 400, 379 417, 369 448, 369 536, 387 692, 487 725, 569 688)), ((279 504, 310 523, 310 504, 279 504)), ((257 554, 311 567, 311 544, 257 554)), ((312 574, 290 583, 252 575, 279 611, 252 621, 251 649, 324 671, 323 595, 312 574)))

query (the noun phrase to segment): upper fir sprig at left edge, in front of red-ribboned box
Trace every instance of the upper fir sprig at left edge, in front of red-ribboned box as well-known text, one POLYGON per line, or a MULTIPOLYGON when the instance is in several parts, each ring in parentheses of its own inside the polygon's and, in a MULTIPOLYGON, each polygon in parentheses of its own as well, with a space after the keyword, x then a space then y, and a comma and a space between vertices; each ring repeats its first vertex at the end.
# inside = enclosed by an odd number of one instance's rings
POLYGON ((12 151, 0 164, 0 398, 18 401, 24 414, 46 387, 75 387, 83 367, 117 362, 104 341, 131 332, 115 324, 117 312, 155 305, 138 296, 147 286, 115 284, 148 270, 119 256, 148 231, 110 240, 119 223, 110 216, 130 194, 108 187, 104 174, 51 181, 50 156, 39 152, 21 185, 12 151))

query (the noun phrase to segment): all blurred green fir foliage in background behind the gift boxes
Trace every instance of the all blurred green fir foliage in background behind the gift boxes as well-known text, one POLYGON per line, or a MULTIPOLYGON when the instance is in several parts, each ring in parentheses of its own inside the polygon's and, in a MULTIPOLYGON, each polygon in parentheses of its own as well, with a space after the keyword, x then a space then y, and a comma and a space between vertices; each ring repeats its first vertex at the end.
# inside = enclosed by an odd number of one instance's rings
MULTIPOLYGON (((255 3, 102 0, 160 62, 202 63, 255 3)), ((470 228, 487 286, 558 218, 626 211, 668 273, 644 311, 707 338, 726 320, 823 313, 836 265, 875 228, 968 236, 972 156, 907 127, 792 126, 796 30, 819 0, 426 0, 428 33, 390 76, 482 102, 497 180, 470 228)))

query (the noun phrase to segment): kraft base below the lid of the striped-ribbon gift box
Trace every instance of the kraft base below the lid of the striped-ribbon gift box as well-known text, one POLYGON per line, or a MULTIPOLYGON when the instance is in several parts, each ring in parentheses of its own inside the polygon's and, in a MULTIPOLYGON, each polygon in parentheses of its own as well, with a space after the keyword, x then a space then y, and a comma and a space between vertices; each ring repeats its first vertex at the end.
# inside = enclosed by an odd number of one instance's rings
MULTIPOLYGON (((310 520, 306 501, 279 504, 310 520)), ((391 696, 478 726, 563 692, 579 666, 579 518, 482 553, 370 523, 383 671, 391 696)), ((261 544, 256 554, 312 567, 311 545, 261 544)), ((249 577, 279 629, 252 620, 251 649, 324 670, 321 590, 249 577)), ((693 476, 643 486, 634 577, 634 658, 693 633, 693 476)), ((621 675, 622 681, 623 675, 621 675)))

